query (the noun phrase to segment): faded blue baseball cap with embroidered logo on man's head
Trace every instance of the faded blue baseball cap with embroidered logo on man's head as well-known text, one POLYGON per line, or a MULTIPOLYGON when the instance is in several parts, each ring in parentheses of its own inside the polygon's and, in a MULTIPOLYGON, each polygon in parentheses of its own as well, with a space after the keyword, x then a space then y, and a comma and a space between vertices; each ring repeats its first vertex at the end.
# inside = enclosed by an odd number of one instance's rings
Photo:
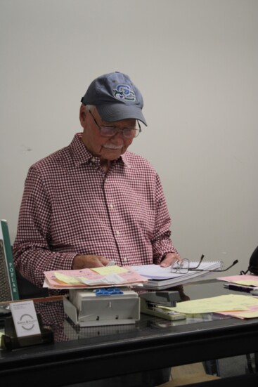
POLYGON ((143 117, 143 96, 131 79, 122 72, 110 72, 94 79, 81 102, 96 105, 106 122, 138 119, 147 126, 143 117))

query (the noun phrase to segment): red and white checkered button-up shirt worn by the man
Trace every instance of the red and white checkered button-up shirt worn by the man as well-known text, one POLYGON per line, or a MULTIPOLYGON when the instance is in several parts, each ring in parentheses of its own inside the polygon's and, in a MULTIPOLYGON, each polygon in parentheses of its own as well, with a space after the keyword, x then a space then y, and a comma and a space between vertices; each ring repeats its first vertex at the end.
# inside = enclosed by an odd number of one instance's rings
POLYGON ((28 172, 15 265, 42 286, 44 271, 70 270, 77 254, 117 265, 158 264, 176 251, 170 224, 160 178, 146 159, 127 151, 105 174, 77 133, 28 172))

